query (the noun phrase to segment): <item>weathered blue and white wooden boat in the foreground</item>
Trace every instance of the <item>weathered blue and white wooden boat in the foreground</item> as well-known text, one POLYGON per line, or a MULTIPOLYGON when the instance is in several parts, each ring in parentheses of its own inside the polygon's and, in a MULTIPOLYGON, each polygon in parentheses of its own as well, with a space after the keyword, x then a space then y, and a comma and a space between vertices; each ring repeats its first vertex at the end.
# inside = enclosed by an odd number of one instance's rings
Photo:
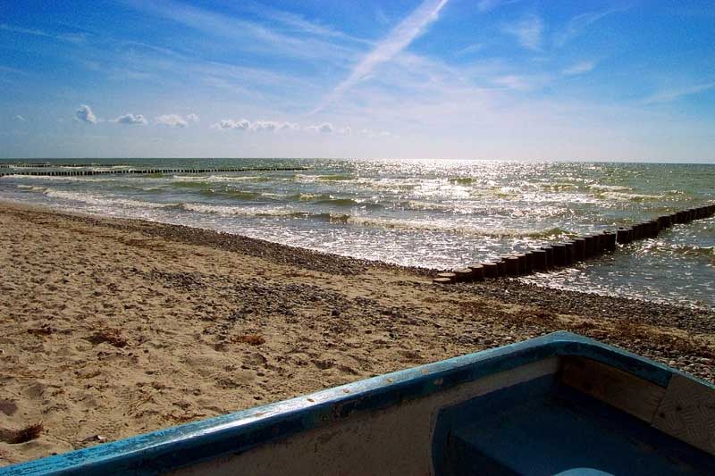
POLYGON ((715 388, 558 332, 17 474, 715 474, 715 388))

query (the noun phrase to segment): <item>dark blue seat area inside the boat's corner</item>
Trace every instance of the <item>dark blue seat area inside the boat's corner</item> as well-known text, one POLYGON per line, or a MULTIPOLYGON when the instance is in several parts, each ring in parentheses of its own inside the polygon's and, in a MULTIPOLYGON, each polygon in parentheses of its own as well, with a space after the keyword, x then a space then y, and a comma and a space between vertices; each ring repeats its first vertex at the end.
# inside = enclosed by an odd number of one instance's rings
POLYGON ((439 474, 715 473, 699 450, 549 376, 443 410, 435 438, 439 474))

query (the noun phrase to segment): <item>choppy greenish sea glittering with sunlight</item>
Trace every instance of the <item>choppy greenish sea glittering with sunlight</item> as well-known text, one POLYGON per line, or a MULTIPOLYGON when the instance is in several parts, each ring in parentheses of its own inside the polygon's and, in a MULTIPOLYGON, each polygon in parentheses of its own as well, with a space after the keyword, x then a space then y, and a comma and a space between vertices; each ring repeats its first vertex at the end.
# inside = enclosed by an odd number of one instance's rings
MULTIPOLYGON (((220 230, 435 270, 646 221, 715 201, 715 164, 391 159, 0 160, 0 172, 302 168, 296 171, 5 176, 0 200, 220 230), (52 167, 18 168, 17 163, 52 167)), ((551 288, 715 307, 715 218, 519 278, 551 288)))

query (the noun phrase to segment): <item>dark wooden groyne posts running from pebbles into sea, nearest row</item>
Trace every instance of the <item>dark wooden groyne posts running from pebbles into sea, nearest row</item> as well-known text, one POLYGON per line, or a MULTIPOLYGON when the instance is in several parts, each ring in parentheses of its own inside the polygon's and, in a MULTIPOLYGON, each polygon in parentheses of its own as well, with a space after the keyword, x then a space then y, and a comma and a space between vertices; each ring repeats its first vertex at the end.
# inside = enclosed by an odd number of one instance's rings
POLYGON ((524 252, 501 255, 498 260, 468 264, 464 268, 440 272, 433 282, 435 284, 452 284, 499 277, 517 277, 533 272, 548 272, 592 259, 604 252, 615 251, 617 244, 627 245, 638 239, 655 238, 660 230, 666 230, 678 223, 708 218, 713 214, 715 214, 715 204, 690 208, 662 215, 656 220, 644 221, 631 227, 603 231, 595 235, 552 243, 524 252))

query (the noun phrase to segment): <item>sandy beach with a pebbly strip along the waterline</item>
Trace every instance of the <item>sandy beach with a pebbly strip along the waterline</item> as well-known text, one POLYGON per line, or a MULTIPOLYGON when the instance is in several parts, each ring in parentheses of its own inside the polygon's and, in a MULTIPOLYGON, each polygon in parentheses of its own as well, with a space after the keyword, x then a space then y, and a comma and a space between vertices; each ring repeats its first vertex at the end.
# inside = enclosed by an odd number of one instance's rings
POLYGON ((10 203, 0 243, 0 465, 555 330, 715 381, 713 310, 10 203))

